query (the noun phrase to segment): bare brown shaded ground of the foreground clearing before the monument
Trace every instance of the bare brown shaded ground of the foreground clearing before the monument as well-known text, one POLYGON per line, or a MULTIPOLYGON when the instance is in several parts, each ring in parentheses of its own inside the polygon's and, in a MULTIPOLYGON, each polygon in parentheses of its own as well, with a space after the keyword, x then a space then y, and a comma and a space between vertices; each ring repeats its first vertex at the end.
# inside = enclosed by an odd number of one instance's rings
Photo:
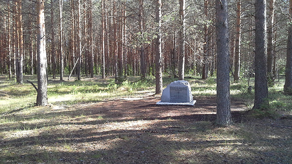
POLYGON ((244 102, 232 100, 235 124, 217 127, 216 98, 194 99, 194 107, 157 106, 158 97, 146 97, 13 111, 0 127, 0 162, 291 163, 291 117, 247 119, 244 102))

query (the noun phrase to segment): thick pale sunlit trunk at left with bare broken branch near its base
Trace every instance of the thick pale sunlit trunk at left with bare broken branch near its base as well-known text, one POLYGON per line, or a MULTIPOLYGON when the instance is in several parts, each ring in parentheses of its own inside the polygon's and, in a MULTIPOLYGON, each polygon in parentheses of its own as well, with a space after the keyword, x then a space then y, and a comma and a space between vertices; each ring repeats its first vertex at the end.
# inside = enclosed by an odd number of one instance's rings
POLYGON ((43 0, 37 0, 37 105, 48 104, 47 97, 47 55, 46 55, 46 34, 45 14, 43 0))

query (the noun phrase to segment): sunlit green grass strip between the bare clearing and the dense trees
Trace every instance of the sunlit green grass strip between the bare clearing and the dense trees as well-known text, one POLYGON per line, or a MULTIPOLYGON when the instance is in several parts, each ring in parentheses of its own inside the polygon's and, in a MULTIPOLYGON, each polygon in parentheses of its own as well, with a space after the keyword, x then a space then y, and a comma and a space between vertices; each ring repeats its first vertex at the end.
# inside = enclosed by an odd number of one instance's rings
MULTIPOLYGON (((7 113, 14 110, 26 110, 34 106, 37 93, 31 84, 25 82, 26 79, 37 83, 36 76, 26 76, 23 85, 16 84, 15 79, 8 80, 1 77, 0 82, 0 113, 7 113)), ((104 99, 114 99, 122 97, 138 97, 154 94, 155 78, 148 77, 146 80, 139 80, 139 77, 129 77, 123 82, 116 83, 110 78, 105 81, 58 81, 48 82, 49 103, 70 106, 77 103, 98 102, 104 99)), ((164 87, 177 79, 163 78, 164 87)), ((185 79, 190 82, 192 94, 194 96, 216 96, 216 78, 210 77, 201 80, 201 77, 190 77, 185 79)), ((251 85, 253 79, 251 79, 251 85)), ((269 87, 270 109, 280 111, 291 111, 292 96, 283 93, 283 79, 276 82, 273 87, 269 87)), ((247 106, 252 107, 254 90, 252 94, 247 93, 248 82, 242 79, 240 82, 231 82, 231 98, 243 100, 247 106)))

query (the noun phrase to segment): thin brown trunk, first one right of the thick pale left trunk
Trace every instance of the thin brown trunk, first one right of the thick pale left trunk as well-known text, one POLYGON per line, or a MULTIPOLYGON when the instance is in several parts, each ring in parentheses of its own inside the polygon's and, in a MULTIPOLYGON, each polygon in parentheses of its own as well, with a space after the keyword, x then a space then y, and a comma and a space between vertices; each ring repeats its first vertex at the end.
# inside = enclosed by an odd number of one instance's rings
POLYGON ((51 56, 52 56, 52 73, 53 79, 56 78, 56 55, 55 55, 55 32, 54 32, 54 5, 53 0, 51 0, 51 36, 52 36, 52 44, 51 44, 51 56))

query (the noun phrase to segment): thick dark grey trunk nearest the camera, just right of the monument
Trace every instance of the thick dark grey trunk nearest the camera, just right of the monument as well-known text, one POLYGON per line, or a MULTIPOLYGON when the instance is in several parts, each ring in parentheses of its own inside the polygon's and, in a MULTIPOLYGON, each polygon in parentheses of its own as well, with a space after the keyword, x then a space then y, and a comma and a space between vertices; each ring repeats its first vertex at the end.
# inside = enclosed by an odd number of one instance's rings
POLYGON ((230 112, 229 35, 227 0, 216 0, 217 17, 217 119, 219 125, 232 123, 230 112))

